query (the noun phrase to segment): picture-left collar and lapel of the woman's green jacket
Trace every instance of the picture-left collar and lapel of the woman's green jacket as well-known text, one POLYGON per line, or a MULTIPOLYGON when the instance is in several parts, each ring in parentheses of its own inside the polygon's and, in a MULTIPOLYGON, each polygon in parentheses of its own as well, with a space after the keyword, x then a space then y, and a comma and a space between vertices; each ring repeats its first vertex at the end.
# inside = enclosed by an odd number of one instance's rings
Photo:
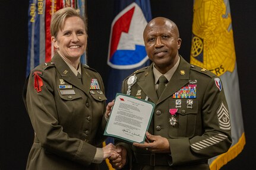
POLYGON ((62 76, 62 79, 64 79, 64 81, 67 81, 69 84, 76 86, 77 88, 81 89, 82 91, 88 94, 88 91, 86 91, 85 86, 81 84, 81 81, 77 78, 77 76, 75 76, 75 74, 64 62, 64 60, 61 59, 61 56, 59 56, 58 53, 56 53, 55 56, 52 58, 52 62, 54 63, 56 70, 62 76))

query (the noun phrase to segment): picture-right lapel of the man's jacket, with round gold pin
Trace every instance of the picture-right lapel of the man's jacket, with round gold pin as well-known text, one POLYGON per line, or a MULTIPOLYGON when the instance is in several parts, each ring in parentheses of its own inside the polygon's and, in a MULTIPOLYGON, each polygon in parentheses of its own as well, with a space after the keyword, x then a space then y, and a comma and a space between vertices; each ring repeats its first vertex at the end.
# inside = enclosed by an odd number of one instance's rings
MULTIPOLYGON (((181 56, 180 56, 181 57, 181 56)), ((166 100, 166 98, 169 98, 171 95, 173 95, 176 91, 181 89, 183 86, 188 84, 189 82, 189 70, 190 65, 187 63, 182 57, 181 61, 179 63, 178 68, 176 69, 175 73, 173 74, 172 78, 166 85, 165 90, 163 91, 163 94, 157 101, 157 104, 166 100)))

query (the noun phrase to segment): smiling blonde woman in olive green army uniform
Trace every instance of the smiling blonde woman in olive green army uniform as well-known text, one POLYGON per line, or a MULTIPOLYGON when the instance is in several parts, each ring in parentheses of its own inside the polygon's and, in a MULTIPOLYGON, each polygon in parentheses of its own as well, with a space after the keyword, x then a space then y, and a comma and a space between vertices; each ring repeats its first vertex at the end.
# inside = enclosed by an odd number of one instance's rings
POLYGON ((24 88, 24 103, 34 129, 26 169, 97 169, 115 154, 103 141, 113 102, 106 107, 101 76, 81 65, 87 45, 86 23, 73 8, 52 15, 52 61, 34 68, 24 88))

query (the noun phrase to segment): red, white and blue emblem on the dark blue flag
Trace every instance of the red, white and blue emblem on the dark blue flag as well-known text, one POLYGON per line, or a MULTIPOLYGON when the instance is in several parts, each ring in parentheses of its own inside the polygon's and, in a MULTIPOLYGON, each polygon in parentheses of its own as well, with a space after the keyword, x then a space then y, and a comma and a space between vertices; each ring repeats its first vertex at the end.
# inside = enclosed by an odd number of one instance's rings
POLYGON ((134 69, 147 60, 143 30, 147 25, 140 6, 133 2, 116 15, 111 26, 108 65, 115 69, 134 69))

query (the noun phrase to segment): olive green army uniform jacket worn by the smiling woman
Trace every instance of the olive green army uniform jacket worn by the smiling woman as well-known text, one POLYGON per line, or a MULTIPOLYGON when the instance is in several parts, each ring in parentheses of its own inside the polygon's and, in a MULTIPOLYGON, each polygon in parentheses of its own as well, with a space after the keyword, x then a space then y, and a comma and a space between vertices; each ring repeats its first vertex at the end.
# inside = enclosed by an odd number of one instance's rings
POLYGON ((103 141, 106 97, 99 73, 81 66, 81 79, 58 53, 37 66, 24 86, 24 102, 35 137, 27 168, 96 169, 96 146, 103 141))

